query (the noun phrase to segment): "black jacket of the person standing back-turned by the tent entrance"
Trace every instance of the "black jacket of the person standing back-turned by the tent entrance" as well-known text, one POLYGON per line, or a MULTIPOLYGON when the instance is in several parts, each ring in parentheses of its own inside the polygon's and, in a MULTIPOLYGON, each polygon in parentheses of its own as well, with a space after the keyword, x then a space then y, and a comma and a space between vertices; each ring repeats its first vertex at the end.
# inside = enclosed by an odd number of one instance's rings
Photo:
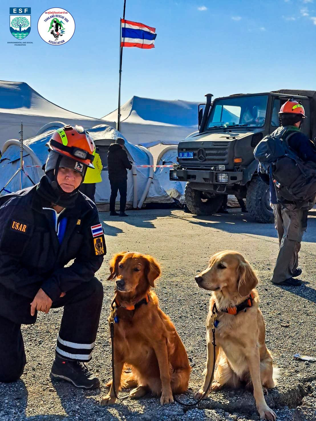
POLYGON ((107 168, 109 171, 109 180, 127 180, 126 168, 131 170, 132 166, 124 149, 112 143, 107 152, 107 168))

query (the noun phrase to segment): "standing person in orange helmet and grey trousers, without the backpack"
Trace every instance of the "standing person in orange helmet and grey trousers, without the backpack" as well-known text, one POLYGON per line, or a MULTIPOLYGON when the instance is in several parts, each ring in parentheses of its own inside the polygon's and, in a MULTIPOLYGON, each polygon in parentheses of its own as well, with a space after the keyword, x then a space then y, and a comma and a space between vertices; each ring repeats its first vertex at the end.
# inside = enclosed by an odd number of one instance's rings
MULTIPOLYGON (((286 139, 291 133, 288 138, 289 147, 302 160, 316 163, 315 145, 304 133, 300 132, 302 121, 306 118, 303 106, 297 101, 289 100, 282 105, 279 116, 281 127, 277 131, 279 133, 283 128, 287 128, 283 139, 286 139)), ((297 208, 294 202, 279 195, 272 175, 262 173, 260 165, 258 174, 270 185, 270 203, 279 237, 279 255, 271 282, 277 285, 300 286, 302 281, 296 279, 302 273, 302 269, 298 267, 298 253, 307 228, 307 213, 314 203, 306 203, 305 207, 297 208)))

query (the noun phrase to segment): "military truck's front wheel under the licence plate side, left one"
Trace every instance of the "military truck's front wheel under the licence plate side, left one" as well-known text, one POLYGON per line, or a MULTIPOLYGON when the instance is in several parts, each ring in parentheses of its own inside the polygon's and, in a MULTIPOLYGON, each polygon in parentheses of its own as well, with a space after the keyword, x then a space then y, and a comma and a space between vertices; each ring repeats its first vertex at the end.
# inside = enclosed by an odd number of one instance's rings
POLYGON ((185 203, 195 215, 212 215, 220 209, 224 196, 207 197, 203 192, 185 186, 185 203))

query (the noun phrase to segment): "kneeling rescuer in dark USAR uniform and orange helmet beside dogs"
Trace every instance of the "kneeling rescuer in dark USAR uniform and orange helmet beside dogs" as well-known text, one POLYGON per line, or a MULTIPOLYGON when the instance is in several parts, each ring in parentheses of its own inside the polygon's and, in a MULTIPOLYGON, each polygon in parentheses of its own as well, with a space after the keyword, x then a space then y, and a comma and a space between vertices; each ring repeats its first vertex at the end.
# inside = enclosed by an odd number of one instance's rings
POLYGON ((23 373, 21 324, 64 307, 50 376, 93 389, 99 380, 84 363, 99 325, 103 287, 94 274, 106 248, 96 205, 78 189, 94 143, 82 127, 65 126, 49 148, 40 182, 0 198, 0 382, 23 373))

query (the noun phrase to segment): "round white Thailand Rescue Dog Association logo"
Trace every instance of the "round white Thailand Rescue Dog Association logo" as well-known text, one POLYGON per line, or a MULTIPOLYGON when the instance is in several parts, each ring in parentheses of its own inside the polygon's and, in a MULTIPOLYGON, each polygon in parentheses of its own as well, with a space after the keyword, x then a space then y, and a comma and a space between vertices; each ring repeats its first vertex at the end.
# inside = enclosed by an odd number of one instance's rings
POLYGON ((46 43, 62 45, 67 43, 75 32, 75 21, 67 10, 55 7, 46 10, 40 16, 37 30, 46 43))

